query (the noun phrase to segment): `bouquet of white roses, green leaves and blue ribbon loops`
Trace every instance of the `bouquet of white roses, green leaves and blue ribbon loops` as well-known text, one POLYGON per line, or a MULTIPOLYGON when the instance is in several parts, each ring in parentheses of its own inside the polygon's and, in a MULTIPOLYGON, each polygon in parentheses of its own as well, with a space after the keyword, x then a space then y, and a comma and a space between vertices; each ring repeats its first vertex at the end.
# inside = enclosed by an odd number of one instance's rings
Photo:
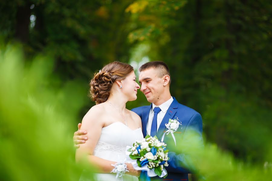
POLYGON ((132 147, 127 147, 127 160, 136 170, 145 170, 149 177, 166 177, 168 166, 168 150, 166 144, 160 142, 157 136, 147 135, 141 141, 135 141, 132 147))

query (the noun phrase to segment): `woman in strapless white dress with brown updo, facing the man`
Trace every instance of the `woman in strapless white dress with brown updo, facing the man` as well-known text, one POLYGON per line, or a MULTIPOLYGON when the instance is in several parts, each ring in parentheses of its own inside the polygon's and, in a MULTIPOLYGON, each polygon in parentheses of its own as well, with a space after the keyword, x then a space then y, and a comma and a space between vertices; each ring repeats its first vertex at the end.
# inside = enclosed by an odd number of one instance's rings
MULTIPOLYGON (((90 82, 90 95, 96 105, 83 117, 80 129, 91 139, 76 150, 76 162, 87 161, 98 167, 95 180, 138 181, 141 172, 131 164, 123 164, 129 170, 123 178, 111 172, 117 162, 125 160, 126 146, 143 139, 141 118, 126 109, 126 102, 136 100, 139 88, 133 67, 122 62, 105 65, 90 82)), ((86 165, 82 167, 80 180, 90 180, 86 165)))

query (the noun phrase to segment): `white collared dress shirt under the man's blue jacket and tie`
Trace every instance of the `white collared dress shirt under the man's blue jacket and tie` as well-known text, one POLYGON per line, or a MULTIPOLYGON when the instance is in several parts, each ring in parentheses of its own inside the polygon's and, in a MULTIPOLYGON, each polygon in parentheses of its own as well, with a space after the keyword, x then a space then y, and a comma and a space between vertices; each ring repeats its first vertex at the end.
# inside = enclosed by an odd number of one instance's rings
POLYGON ((154 118, 154 108, 155 107, 159 107, 160 108, 160 112, 157 115, 157 131, 160 127, 160 123, 162 122, 162 120, 164 119, 164 116, 166 114, 166 111, 168 110, 169 106, 171 105, 171 103, 173 102, 173 97, 171 96, 171 98, 169 100, 167 100, 166 102, 162 103, 160 106, 156 106, 154 103, 152 103, 152 108, 150 109, 149 112, 149 116, 148 116, 148 121, 147 121, 147 126, 146 126, 146 133, 147 135, 150 135, 151 132, 151 124, 152 124, 152 120, 154 118))

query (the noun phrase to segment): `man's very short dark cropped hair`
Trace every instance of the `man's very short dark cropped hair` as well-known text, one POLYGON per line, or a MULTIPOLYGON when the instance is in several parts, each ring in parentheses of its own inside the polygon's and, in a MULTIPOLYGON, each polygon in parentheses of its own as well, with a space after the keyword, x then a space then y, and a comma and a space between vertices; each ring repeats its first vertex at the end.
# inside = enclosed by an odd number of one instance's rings
POLYGON ((164 63, 162 61, 147 62, 147 63, 141 65, 141 67, 139 68, 139 72, 144 71, 149 68, 154 68, 154 69, 158 70, 158 75, 160 77, 163 77, 164 75, 169 75, 169 77, 170 77, 169 85, 171 84, 171 75, 170 75, 170 71, 169 71, 169 68, 166 65, 166 63, 164 63))

